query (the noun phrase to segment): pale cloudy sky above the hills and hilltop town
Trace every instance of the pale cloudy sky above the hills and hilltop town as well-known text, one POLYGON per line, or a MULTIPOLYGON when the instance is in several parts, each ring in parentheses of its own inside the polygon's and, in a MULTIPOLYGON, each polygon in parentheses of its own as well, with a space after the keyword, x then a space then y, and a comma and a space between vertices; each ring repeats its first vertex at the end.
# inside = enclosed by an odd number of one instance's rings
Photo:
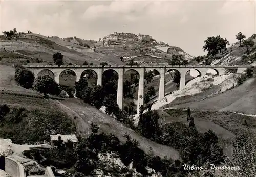
MULTIPOLYGON (((0 0, 1 2, 1 0, 0 0)), ((1 32, 16 28, 46 36, 98 40, 116 32, 152 35, 157 41, 203 55, 209 36, 230 43, 256 33, 253 1, 8 1, 1 2, 1 32)))

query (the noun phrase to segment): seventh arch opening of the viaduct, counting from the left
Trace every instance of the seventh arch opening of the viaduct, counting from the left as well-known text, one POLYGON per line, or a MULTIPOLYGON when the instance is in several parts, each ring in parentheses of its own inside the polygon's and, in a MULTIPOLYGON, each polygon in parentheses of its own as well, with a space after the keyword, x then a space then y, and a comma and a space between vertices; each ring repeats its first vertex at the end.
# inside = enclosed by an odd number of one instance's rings
POLYGON ((175 68, 166 68, 165 82, 164 82, 164 95, 171 94, 172 92, 179 90, 181 72, 175 68), (178 73, 178 78, 175 75, 178 73))

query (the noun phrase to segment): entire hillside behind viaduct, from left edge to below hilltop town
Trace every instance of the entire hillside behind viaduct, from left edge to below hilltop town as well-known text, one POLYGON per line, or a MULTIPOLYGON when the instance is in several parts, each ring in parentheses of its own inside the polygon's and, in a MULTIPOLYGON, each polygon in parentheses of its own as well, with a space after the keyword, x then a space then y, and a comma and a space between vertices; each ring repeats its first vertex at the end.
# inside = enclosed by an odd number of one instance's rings
POLYGON ((168 63, 172 59, 172 54, 182 55, 188 61, 192 58, 178 47, 168 46, 167 44, 157 45, 155 42, 136 41, 135 38, 136 35, 133 34, 131 38, 97 42, 77 37, 61 39, 57 36, 49 37, 34 33, 21 34, 18 37, 10 38, 10 40, 1 36, 0 49, 5 48, 5 50, 1 52, 2 61, 0 61, 0 64, 11 64, 17 60, 24 64, 52 64, 52 55, 56 52, 64 55, 63 60, 66 65, 69 63, 82 65, 84 61, 94 65, 101 62, 125 65, 120 61, 121 56, 124 58, 123 61, 135 58, 134 60, 141 64, 168 63), (168 52, 164 52, 161 46, 167 46, 169 48, 168 52), (96 47, 95 52, 94 47, 96 47))

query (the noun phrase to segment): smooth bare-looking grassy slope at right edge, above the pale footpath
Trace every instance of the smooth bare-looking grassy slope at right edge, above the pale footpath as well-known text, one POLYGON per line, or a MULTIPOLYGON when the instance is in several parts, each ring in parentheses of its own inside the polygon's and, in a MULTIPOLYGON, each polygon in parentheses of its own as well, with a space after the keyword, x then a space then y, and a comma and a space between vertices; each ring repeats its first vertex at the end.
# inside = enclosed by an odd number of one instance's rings
MULTIPOLYGON (((245 83, 232 90, 226 91, 211 98, 196 101, 193 97, 187 97, 184 104, 179 104, 180 100, 172 103, 175 108, 234 111, 245 114, 256 114, 256 78, 251 78, 245 83), (178 105, 179 104, 179 105, 178 105)), ((184 99, 184 98, 183 98, 184 99)))

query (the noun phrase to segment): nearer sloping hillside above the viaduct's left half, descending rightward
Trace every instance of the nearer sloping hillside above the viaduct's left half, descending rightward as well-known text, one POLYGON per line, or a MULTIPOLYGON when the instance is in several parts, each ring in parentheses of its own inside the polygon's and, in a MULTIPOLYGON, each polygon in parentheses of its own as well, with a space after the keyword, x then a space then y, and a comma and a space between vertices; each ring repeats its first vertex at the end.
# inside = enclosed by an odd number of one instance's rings
POLYGON ((52 55, 61 52, 64 55, 65 64, 69 63, 82 65, 84 61, 98 65, 102 61, 109 64, 123 65, 120 59, 110 55, 94 52, 93 49, 80 46, 78 44, 62 40, 57 37, 46 37, 39 34, 25 34, 18 39, 7 40, 0 38, 0 48, 4 54, 1 54, 0 64, 12 64, 22 61, 26 63, 48 63, 52 64, 52 55), (10 60, 10 55, 12 59, 10 60))

